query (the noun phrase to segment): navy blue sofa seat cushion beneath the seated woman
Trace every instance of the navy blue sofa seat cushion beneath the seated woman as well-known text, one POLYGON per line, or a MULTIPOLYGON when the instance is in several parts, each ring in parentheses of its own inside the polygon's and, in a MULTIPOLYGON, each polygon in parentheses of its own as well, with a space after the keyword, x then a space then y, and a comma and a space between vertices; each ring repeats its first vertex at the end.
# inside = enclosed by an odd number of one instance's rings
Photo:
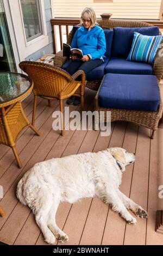
MULTIPOLYGON (((109 58, 104 58, 104 63, 102 63, 100 66, 97 66, 97 68, 92 69, 90 72, 88 72, 86 76, 87 81, 102 80, 104 76, 105 66, 108 63, 108 61, 109 61, 109 58)), ((67 60, 67 62, 64 65, 62 65, 62 69, 66 69, 70 62, 71 60, 67 60)))

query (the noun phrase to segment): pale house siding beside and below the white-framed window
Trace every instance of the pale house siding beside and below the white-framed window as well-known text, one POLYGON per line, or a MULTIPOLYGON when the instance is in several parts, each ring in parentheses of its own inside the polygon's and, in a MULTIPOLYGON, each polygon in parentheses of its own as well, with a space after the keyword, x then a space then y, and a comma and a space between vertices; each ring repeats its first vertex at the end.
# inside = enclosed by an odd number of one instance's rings
POLYGON ((45 51, 45 53, 53 53, 53 36, 52 36, 52 26, 51 26, 51 19, 52 19, 52 8, 51 8, 51 0, 44 0, 44 6, 45 6, 45 16, 46 16, 46 27, 47 27, 47 34, 49 38, 49 43, 45 47, 41 48, 39 51, 34 52, 33 54, 30 54, 26 58, 26 60, 32 59, 36 60, 41 57, 41 51, 45 51))

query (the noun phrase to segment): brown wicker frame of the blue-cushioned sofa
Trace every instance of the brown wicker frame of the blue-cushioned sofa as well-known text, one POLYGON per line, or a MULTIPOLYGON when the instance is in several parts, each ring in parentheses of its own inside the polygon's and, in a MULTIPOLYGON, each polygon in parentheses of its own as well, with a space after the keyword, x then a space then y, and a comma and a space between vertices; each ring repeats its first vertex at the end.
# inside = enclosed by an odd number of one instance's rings
MULTIPOLYGON (((114 27, 151 27, 152 25, 146 22, 140 21, 130 21, 130 20, 109 20, 109 21, 99 21, 99 26, 104 29, 112 29, 114 27)), ((161 32, 159 33, 161 34, 161 32)), ((71 44, 72 41, 72 31, 68 34, 67 44, 71 44)), ((163 40, 162 40, 163 43, 163 40)), ((54 65, 61 67, 66 62, 66 57, 63 57, 62 51, 55 54, 54 65)), ((158 78, 158 81, 161 80, 163 75, 163 57, 156 55, 153 65, 153 75, 158 78)), ((87 81, 86 87, 98 90, 101 84, 101 80, 87 81)))

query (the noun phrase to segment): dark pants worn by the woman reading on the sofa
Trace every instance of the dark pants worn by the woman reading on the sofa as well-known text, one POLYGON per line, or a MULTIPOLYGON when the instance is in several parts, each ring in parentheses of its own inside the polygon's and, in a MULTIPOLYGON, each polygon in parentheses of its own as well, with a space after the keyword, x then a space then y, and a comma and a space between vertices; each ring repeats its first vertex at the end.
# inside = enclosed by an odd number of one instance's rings
POLYGON ((85 76, 87 72, 92 69, 97 68, 97 66, 103 63, 102 59, 91 59, 88 62, 83 62, 81 59, 70 60, 69 65, 65 69, 71 76, 78 70, 83 70, 85 72, 85 76))

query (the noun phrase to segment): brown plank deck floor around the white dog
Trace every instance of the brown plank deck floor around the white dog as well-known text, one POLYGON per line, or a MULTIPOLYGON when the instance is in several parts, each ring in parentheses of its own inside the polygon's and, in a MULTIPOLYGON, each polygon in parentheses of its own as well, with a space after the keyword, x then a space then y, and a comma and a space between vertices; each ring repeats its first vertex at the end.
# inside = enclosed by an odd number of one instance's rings
MULTIPOLYGON (((87 110, 93 109, 94 97, 95 92, 87 90, 87 110)), ((23 107, 31 120, 32 94, 23 101, 23 107)), ((120 189, 147 209, 148 220, 137 218, 136 225, 129 225, 98 198, 86 198, 73 205, 60 204, 57 224, 69 237, 67 245, 163 245, 163 235, 155 232, 156 210, 163 208, 163 199, 158 198, 158 187, 163 185, 163 129, 160 128, 151 140, 151 131, 145 127, 115 122, 111 125, 109 137, 101 137, 99 131, 66 131, 62 137, 59 131, 52 130, 54 109, 59 110, 58 101, 48 107, 46 100, 38 99, 35 127, 41 136, 35 136, 30 129, 21 133, 17 150, 22 169, 17 168, 12 151, 0 145, 0 185, 4 190, 0 204, 6 212, 5 217, 0 217, 0 241, 9 245, 46 245, 34 215, 15 196, 17 182, 36 162, 108 147, 123 147, 136 153, 137 159, 123 173, 120 189)), ((71 105, 70 109, 79 107, 71 105)))

